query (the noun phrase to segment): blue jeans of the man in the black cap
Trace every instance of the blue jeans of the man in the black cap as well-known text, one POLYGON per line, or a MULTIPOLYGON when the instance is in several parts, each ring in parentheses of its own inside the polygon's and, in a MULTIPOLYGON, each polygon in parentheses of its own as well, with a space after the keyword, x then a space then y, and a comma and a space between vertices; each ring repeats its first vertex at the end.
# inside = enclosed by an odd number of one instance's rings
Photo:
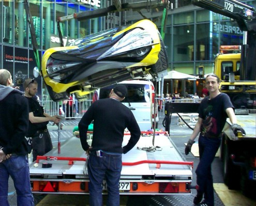
POLYGON ((97 157, 91 153, 87 161, 89 175, 89 203, 90 206, 102 205, 102 181, 106 178, 108 188, 107 206, 119 206, 119 179, 122 170, 122 155, 108 155, 102 153, 97 157))

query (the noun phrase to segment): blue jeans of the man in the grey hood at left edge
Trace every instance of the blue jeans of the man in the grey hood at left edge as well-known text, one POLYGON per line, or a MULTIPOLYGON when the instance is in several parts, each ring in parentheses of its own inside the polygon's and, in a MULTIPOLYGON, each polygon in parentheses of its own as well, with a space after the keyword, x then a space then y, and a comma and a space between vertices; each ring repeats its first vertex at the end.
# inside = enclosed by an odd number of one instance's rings
POLYGON ((17 193, 18 206, 33 206, 27 156, 11 156, 0 163, 0 204, 9 206, 8 179, 11 176, 17 193))

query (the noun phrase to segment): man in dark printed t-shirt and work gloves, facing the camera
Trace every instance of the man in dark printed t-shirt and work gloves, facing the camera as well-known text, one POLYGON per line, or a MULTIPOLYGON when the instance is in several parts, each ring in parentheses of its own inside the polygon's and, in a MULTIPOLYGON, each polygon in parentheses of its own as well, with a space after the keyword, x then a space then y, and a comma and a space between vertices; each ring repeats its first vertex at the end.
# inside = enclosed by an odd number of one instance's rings
POLYGON ((198 122, 185 148, 185 154, 191 151, 194 139, 199 135, 199 156, 200 162, 195 174, 197 174, 197 196, 194 197, 194 204, 214 205, 214 187, 212 176, 212 162, 221 142, 221 132, 229 117, 232 123, 232 130, 237 135, 240 130, 245 134, 242 127, 237 125, 234 107, 227 94, 220 93, 220 79, 215 74, 206 77, 206 88, 209 96, 205 97, 199 107, 198 122), (202 201, 204 196, 204 200, 202 201), (201 202, 202 201, 202 202, 201 202))

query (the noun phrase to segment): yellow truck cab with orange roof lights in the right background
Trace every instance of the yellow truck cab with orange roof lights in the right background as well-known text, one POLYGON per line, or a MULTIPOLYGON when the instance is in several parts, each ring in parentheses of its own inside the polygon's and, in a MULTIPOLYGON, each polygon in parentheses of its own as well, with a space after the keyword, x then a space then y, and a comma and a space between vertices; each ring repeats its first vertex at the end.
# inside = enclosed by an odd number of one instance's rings
POLYGON ((252 108, 255 101, 255 81, 242 78, 241 46, 220 46, 214 64, 214 73, 220 77, 220 91, 227 93, 235 108, 252 108))

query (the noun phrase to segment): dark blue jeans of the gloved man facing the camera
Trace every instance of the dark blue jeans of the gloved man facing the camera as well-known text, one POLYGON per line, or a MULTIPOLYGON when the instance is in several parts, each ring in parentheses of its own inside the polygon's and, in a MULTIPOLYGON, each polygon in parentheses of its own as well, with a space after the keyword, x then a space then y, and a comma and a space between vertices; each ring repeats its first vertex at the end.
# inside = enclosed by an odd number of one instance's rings
POLYGON ((204 194, 204 199, 209 205, 214 205, 214 187, 212 175, 212 162, 220 146, 220 138, 206 138, 199 136, 199 156, 200 162, 197 170, 198 193, 204 194))

